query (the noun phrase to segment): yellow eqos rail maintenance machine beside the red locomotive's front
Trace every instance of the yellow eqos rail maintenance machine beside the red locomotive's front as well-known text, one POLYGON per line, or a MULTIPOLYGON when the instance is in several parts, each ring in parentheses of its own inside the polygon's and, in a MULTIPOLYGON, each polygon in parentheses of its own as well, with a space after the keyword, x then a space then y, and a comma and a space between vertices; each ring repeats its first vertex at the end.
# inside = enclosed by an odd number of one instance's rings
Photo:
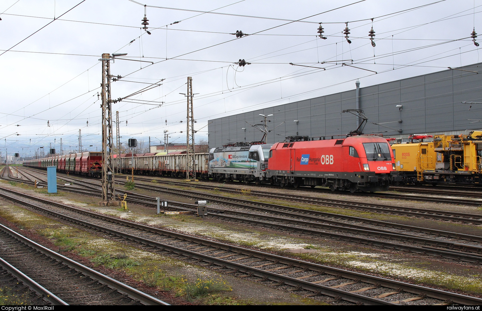
POLYGON ((429 137, 411 135, 408 143, 392 144, 403 182, 481 183, 482 131, 434 135, 433 142, 427 142, 429 137))

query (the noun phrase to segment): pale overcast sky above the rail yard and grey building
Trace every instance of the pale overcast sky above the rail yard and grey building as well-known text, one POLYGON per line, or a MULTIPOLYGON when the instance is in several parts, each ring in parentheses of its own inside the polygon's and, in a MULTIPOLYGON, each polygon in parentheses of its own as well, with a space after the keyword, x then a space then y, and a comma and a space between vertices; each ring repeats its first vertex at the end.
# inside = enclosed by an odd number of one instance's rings
POLYGON ((112 64, 111 73, 125 77, 112 83, 113 98, 164 79, 112 109, 114 117, 119 111, 121 142, 147 143, 150 136, 153 145, 164 130, 170 142, 186 142, 179 93, 186 93, 187 77, 199 93, 199 140, 216 117, 354 89, 356 79, 366 87, 482 62, 468 38, 474 26, 482 33, 480 0, 81 1, 0 1, 0 151, 28 156, 50 143, 58 150, 60 138, 64 150, 75 150, 79 129, 84 147, 100 150, 102 53, 154 62, 112 64), (151 35, 141 29, 145 10, 151 35), (347 21, 351 44, 342 35, 347 21), (317 37, 320 22, 327 39, 317 37), (253 35, 236 39, 236 30, 253 35), (233 64, 240 58, 252 64, 233 64))

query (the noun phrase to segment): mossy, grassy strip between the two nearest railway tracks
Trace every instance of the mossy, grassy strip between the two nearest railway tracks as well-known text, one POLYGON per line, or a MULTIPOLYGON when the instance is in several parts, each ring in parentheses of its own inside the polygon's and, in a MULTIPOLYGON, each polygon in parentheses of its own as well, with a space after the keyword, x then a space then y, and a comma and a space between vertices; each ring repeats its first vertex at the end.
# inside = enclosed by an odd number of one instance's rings
MULTIPOLYGON (((15 223, 20 230, 28 230, 49 239, 55 247, 58 247, 55 251, 72 252, 89 259, 94 266, 123 271, 137 282, 157 292, 166 292, 172 297, 178 297, 190 303, 207 305, 278 303, 276 300, 250 300, 233 296, 232 285, 223 276, 208 269, 99 237, 22 207, 0 202, 0 216, 15 223)), ((281 300, 281 303, 320 303, 296 295, 288 294, 288 296, 290 299, 281 300)))

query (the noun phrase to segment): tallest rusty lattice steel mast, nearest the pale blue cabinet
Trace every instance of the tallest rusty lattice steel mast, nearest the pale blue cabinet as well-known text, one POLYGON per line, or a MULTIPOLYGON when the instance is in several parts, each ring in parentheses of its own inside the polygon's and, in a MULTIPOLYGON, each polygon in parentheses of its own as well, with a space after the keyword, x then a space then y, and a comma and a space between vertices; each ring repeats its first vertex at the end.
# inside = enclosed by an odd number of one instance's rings
MULTIPOLYGON (((116 201, 112 169, 112 100, 110 97, 110 54, 102 54, 102 205, 116 201)), ((109 204, 110 203, 110 204, 109 204)), ((116 202, 117 203, 117 202, 116 202)))

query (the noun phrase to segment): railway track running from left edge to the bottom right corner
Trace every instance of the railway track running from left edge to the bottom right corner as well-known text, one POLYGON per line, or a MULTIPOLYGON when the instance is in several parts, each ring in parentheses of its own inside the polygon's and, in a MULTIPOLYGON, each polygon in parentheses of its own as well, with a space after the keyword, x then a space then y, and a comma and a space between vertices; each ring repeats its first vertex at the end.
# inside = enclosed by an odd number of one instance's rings
POLYGON ((48 217, 106 233, 128 243, 142 244, 187 262, 204 264, 218 272, 234 272, 240 277, 296 291, 301 295, 329 296, 331 299, 327 301, 335 304, 337 300, 369 305, 482 303, 480 298, 162 230, 5 189, 1 189, 0 193, 6 199, 34 208, 48 217))

